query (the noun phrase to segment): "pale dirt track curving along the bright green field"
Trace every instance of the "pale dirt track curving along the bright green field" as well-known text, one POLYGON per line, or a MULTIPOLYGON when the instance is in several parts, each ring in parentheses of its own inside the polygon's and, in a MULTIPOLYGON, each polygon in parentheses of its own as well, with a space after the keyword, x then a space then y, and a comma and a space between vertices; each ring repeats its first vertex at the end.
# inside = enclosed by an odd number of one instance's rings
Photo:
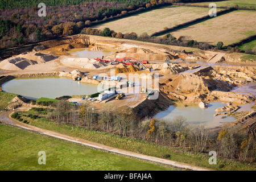
POLYGON ((193 171, 208 171, 209 170, 209 169, 205 169, 205 168, 201 168, 201 167, 191 166, 189 164, 175 162, 175 161, 172 161, 172 160, 160 159, 160 158, 155 158, 155 157, 148 156, 148 155, 137 154, 135 152, 120 150, 118 148, 104 146, 103 144, 90 142, 88 140, 79 139, 79 138, 75 138, 75 137, 69 137, 68 135, 63 135, 63 134, 56 133, 56 132, 53 132, 53 131, 40 129, 39 127, 30 126, 30 125, 27 125, 27 124, 16 121, 15 119, 10 117, 11 113, 13 113, 13 111, 7 111, 5 113, 1 113, 0 114, 0 121, 2 123, 5 123, 6 125, 19 127, 20 129, 26 129, 26 130, 33 131, 33 132, 36 132, 36 133, 39 133, 39 134, 48 135, 48 136, 63 139, 63 140, 68 140, 69 142, 79 143, 79 144, 82 144, 84 146, 98 148, 100 150, 114 152, 116 154, 131 156, 133 158, 149 160, 151 162, 167 164, 167 165, 174 166, 174 167, 179 167, 179 168, 187 168, 187 169, 191 169, 193 171))

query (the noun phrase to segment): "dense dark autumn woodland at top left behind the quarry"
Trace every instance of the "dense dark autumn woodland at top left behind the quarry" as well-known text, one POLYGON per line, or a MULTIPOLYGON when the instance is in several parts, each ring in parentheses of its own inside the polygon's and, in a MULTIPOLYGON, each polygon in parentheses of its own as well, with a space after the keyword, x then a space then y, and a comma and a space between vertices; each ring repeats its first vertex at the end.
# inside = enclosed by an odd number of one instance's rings
POLYGON ((73 5, 72 1, 54 2, 54 6, 51 6, 51 3, 50 6, 47 5, 46 17, 38 16, 39 8, 35 2, 31 2, 34 7, 22 5, 16 9, 0 10, 0 48, 35 43, 56 36, 79 34, 84 27, 164 6, 170 4, 171 0, 84 1, 79 5, 73 5), (60 2, 67 5, 60 6, 60 2))

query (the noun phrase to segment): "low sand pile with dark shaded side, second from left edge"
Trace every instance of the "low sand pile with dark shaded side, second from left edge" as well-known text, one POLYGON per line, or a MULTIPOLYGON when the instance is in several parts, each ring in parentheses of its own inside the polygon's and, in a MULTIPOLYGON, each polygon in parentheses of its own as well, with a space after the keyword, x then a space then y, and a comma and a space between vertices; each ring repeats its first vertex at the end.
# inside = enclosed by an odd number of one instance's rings
POLYGON ((48 61, 57 59, 56 56, 45 55, 39 52, 25 52, 16 57, 23 57, 24 59, 38 61, 38 63, 46 63, 48 61))

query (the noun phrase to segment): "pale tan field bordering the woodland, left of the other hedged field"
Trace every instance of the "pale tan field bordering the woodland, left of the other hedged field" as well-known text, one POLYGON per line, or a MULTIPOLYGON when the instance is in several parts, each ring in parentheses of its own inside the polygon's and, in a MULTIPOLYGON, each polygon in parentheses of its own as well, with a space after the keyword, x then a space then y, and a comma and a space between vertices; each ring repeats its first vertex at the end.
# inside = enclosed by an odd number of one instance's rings
POLYGON ((209 9, 204 7, 168 6, 103 23, 93 28, 103 29, 108 27, 115 32, 122 32, 123 34, 136 32, 141 35, 143 32, 147 32, 148 35, 151 35, 156 31, 163 30, 164 27, 170 28, 208 15, 208 11, 209 9))

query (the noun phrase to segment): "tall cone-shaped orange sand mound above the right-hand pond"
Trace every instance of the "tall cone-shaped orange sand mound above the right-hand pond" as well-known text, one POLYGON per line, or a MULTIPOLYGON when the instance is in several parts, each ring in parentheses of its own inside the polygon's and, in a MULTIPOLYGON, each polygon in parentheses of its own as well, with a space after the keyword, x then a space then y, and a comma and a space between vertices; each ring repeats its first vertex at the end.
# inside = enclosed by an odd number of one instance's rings
POLYGON ((180 93, 208 93, 212 86, 208 80, 193 73, 184 73, 160 85, 161 89, 180 93))

